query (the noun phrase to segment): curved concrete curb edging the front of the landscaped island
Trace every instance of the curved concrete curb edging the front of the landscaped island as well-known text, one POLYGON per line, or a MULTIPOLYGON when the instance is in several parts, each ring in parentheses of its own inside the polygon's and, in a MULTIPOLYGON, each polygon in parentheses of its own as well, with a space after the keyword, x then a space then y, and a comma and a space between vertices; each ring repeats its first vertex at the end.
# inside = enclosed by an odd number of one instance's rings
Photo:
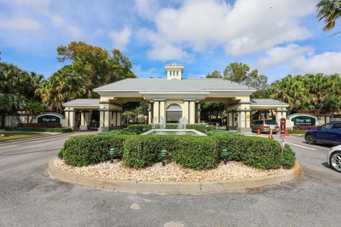
POLYGON ((195 193, 195 192, 224 192, 229 190, 242 190, 256 187, 264 187, 271 184, 281 184, 298 177, 301 167, 296 162, 291 170, 266 177, 252 179, 232 179, 221 182, 141 182, 118 181, 114 179, 100 179, 87 177, 61 170, 54 165, 54 161, 48 162, 48 175, 54 179, 71 184, 102 189, 113 189, 128 192, 154 192, 154 193, 195 193))

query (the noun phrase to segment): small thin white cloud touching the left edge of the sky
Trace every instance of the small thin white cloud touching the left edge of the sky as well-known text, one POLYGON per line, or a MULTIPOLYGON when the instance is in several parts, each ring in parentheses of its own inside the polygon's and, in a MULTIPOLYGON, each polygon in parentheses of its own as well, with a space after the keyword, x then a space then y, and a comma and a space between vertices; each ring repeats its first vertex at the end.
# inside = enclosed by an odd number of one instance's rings
POLYGON ((27 17, 12 17, 0 19, 0 28, 10 31, 23 31, 28 33, 36 33, 40 31, 42 26, 33 18, 27 17))

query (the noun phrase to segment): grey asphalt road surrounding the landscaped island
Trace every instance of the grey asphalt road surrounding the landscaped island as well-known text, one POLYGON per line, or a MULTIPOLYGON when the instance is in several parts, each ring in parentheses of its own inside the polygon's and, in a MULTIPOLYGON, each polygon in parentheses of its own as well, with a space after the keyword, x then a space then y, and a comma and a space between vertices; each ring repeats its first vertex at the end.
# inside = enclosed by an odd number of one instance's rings
MULTIPOLYGON (((75 134, 71 134, 75 135, 75 134)), ((341 174, 328 146, 289 136, 303 173, 215 194, 141 194, 74 186, 45 170, 68 135, 0 143, 0 226, 340 226, 341 174)), ((262 135, 266 136, 266 135, 262 135)))

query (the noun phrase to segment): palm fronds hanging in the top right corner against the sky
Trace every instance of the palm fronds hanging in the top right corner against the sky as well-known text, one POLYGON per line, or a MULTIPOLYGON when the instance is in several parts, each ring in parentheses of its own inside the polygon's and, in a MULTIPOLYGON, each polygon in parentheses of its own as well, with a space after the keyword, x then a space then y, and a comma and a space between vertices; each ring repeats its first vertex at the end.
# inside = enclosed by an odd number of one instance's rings
POLYGON ((330 31, 335 27, 336 20, 341 16, 340 0, 321 0, 317 5, 318 21, 324 21, 323 31, 330 31))

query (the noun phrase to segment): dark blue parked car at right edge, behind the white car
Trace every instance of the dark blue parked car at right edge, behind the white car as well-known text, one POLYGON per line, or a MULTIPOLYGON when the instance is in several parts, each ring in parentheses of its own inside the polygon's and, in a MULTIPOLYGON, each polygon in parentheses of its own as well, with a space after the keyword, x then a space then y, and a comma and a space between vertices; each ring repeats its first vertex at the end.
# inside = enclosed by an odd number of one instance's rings
POLYGON ((305 141, 309 144, 341 144, 341 121, 333 121, 326 123, 323 126, 319 126, 318 129, 310 129, 306 131, 305 141))

